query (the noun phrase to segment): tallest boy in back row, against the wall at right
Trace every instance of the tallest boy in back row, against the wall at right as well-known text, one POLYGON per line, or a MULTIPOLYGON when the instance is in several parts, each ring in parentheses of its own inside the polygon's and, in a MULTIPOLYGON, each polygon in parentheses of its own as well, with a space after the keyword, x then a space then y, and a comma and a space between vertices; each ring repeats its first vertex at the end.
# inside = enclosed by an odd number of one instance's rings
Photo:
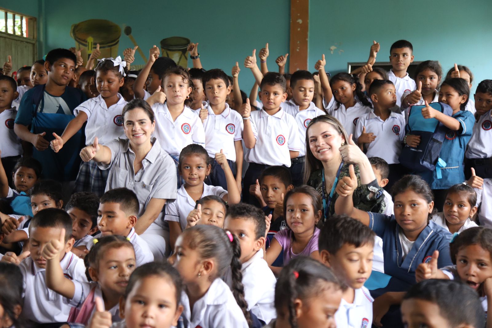
POLYGON ((406 90, 417 89, 415 81, 408 76, 407 69, 413 63, 413 46, 407 40, 398 40, 391 45, 390 63, 393 66, 388 72, 388 78, 395 84, 398 106, 406 90))

